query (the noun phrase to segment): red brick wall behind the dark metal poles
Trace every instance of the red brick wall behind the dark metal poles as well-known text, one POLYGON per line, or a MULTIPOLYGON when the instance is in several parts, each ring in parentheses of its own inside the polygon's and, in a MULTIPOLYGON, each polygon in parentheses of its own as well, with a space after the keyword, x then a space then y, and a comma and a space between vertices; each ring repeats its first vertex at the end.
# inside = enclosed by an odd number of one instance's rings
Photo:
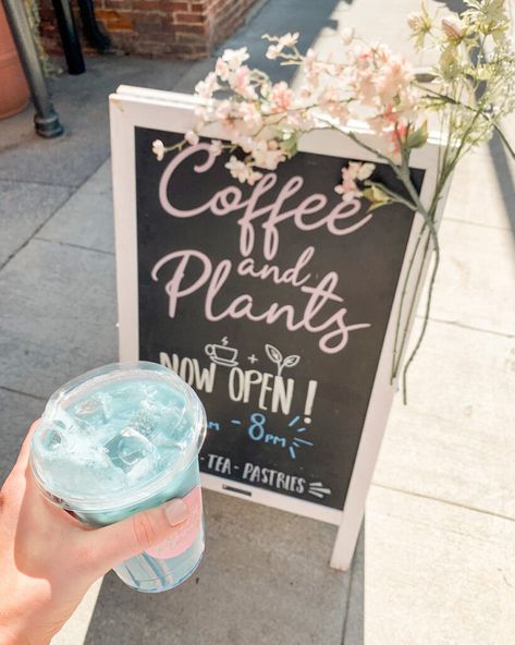
MULTIPOLYGON (((243 24, 256 1, 96 0, 95 8, 115 49, 149 57, 199 59, 243 24)), ((52 2, 39 0, 39 4, 44 46, 49 53, 61 53, 52 2)), ((78 14, 76 23, 81 31, 78 14)), ((85 42, 83 46, 90 51, 85 42)))

